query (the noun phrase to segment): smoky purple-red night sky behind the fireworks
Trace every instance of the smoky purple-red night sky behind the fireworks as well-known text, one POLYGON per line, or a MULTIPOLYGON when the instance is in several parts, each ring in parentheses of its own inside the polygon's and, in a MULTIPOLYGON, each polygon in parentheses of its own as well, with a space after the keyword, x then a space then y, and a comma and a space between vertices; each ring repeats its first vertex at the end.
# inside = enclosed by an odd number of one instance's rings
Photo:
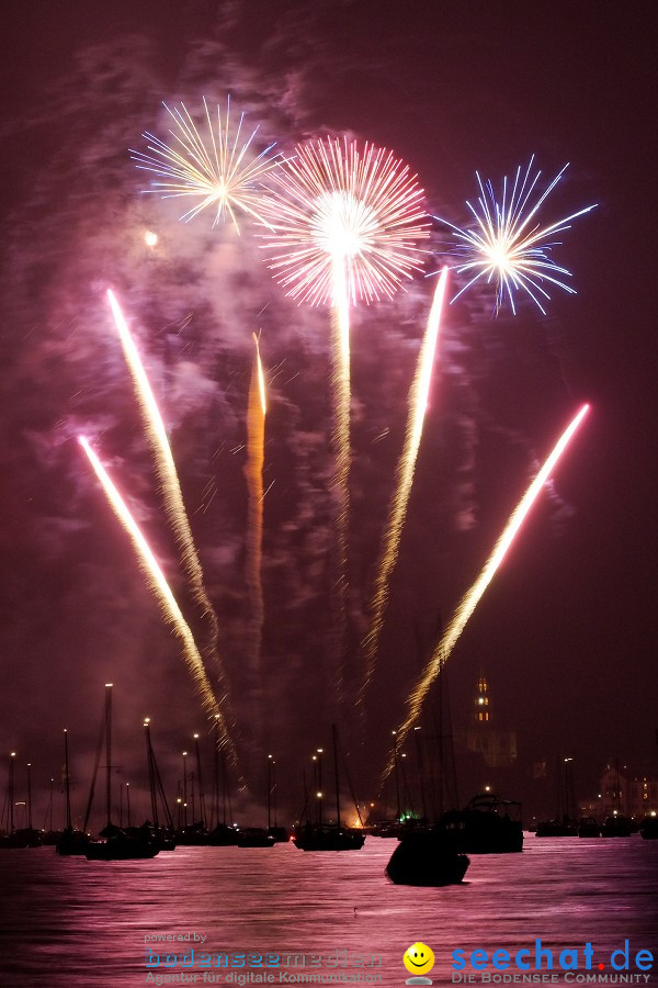
MULTIPOLYGON (((296 806, 302 765, 337 717, 374 788, 421 653, 585 401, 589 418, 450 659, 453 720, 466 725, 484 667, 523 765, 572 756, 583 796, 617 757, 655 773, 653 5, 61 0, 3 19, 0 751, 18 751, 19 774, 31 761, 37 788, 58 778, 67 727, 86 789, 105 682, 122 779, 145 775, 145 715, 171 778, 205 731, 179 644, 75 441, 97 444, 190 613, 110 285, 170 431, 256 802, 268 750, 296 806), (492 319, 487 291, 447 312, 365 745, 350 703, 332 703, 328 313, 284 296, 252 227, 180 224, 177 203, 140 194, 129 159, 144 130, 164 136, 162 101, 196 111, 228 92, 283 151, 343 133, 392 147, 429 212, 453 223, 467 222, 476 169, 498 184, 533 153, 546 180, 570 162, 546 218, 599 204, 559 248, 578 294, 556 289, 546 317, 527 302, 492 319), (243 444, 259 329, 272 487, 256 680, 243 444)), ((446 243, 434 224, 428 270, 446 243)), ((352 318, 349 683, 433 284, 418 277, 352 318)))

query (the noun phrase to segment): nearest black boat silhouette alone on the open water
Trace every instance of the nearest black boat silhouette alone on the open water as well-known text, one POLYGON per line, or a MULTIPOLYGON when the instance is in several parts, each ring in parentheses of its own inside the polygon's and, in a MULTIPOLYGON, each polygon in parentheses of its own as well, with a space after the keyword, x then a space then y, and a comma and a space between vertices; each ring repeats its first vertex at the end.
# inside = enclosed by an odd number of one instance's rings
POLYGON ((394 885, 458 885, 469 864, 454 835, 432 828, 409 831, 400 839, 386 865, 386 875, 394 885))

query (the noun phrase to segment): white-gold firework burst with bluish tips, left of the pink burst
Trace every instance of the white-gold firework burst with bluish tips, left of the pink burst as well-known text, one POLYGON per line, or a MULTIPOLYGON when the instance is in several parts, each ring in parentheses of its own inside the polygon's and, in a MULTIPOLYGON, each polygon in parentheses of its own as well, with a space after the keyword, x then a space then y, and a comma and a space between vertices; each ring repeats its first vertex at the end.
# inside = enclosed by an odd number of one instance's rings
POLYGON ((268 157, 274 144, 268 145, 259 155, 252 155, 250 148, 258 127, 242 139, 245 114, 240 114, 239 123, 234 128, 230 123, 230 97, 224 120, 222 109, 217 106, 216 127, 204 97, 207 141, 201 136, 183 103, 180 110, 175 106, 172 110, 167 103, 162 105, 175 125, 175 130, 169 132, 173 143, 168 145, 146 131, 143 136, 152 142, 148 145, 150 154, 131 150, 137 168, 155 172, 162 179, 151 181, 152 188, 145 191, 159 192, 163 199, 183 197, 201 200, 183 213, 181 220, 185 222, 193 220, 207 206, 215 206, 213 226, 229 216, 239 234, 236 210, 269 226, 261 215, 260 183, 263 176, 280 164, 279 156, 268 157))

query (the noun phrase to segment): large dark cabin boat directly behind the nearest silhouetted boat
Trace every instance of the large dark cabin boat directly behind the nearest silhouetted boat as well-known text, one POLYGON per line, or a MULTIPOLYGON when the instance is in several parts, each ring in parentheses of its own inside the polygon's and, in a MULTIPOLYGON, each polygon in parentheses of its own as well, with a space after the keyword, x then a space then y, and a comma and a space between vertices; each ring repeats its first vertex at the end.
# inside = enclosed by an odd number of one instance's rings
POLYGON ((436 829, 466 854, 509 854, 523 851, 521 804, 495 793, 479 793, 463 810, 443 813, 436 829))

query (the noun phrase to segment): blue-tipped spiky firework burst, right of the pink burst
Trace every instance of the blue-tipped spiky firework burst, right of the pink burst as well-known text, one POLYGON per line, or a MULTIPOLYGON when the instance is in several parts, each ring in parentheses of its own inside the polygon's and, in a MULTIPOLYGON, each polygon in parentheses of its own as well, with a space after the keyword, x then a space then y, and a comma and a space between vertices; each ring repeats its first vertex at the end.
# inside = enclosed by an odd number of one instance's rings
POLYGON ((571 220, 595 209, 595 203, 565 216, 564 220, 558 220, 556 223, 542 226, 541 223, 534 222, 534 225, 531 226, 547 197, 568 168, 568 165, 565 165, 532 205, 530 200, 542 175, 541 171, 537 171, 534 178, 531 178, 533 161, 534 155, 531 157, 523 177, 521 176, 521 166, 519 166, 513 183, 509 183, 511 191, 508 187, 507 176, 503 178, 500 200, 496 198, 491 181, 483 183, 479 173, 476 172, 480 195, 475 206, 470 202, 466 202, 477 224, 476 228, 462 229, 447 220, 435 217, 451 227, 453 236, 457 240, 454 252, 465 259, 463 263, 456 266, 457 273, 473 272, 468 283, 457 292, 451 302, 454 302, 481 279, 487 284, 490 284, 494 279, 496 280, 497 314, 506 295, 512 313, 515 314, 514 291, 523 290, 546 315, 546 311, 537 297, 537 295, 542 295, 544 299, 551 299, 542 285, 544 281, 557 285, 571 295, 576 294, 576 289, 555 277, 559 274, 570 278, 571 272, 552 259, 551 250, 561 243, 552 240, 552 237, 569 229, 571 220))

